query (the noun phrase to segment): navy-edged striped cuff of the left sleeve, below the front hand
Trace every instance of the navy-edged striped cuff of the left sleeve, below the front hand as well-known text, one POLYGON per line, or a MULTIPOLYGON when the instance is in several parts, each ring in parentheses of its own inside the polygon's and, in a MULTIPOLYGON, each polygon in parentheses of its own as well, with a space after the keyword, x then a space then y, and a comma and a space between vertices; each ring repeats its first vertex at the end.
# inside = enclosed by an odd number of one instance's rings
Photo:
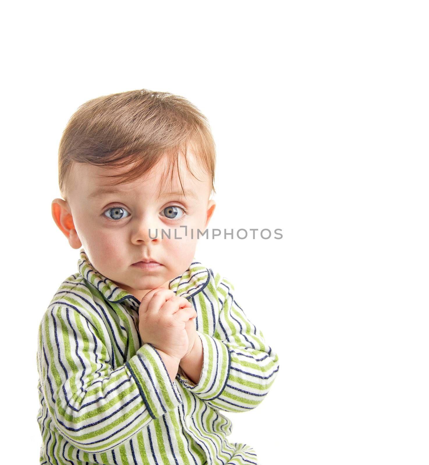
POLYGON ((183 403, 177 385, 171 382, 163 359, 150 343, 143 344, 125 366, 136 382, 153 419, 183 403))

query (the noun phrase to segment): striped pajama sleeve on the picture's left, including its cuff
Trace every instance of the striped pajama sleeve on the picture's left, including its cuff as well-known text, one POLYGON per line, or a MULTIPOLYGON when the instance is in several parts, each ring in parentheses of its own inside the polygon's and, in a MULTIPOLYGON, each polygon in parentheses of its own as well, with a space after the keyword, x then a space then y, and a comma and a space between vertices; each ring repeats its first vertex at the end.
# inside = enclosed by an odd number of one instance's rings
POLYGON ((115 447, 183 401, 157 350, 143 344, 112 369, 106 327, 73 305, 48 308, 38 370, 55 428, 85 452, 115 447))

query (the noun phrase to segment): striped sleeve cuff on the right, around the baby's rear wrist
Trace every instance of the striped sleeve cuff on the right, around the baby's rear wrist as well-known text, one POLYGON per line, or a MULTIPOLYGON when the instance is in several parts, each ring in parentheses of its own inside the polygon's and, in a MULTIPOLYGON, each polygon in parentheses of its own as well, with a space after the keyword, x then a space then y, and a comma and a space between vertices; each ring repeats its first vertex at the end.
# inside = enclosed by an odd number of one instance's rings
POLYGON ((203 344, 203 369, 198 383, 187 378, 179 366, 178 381, 197 394, 200 399, 212 400, 220 396, 226 386, 231 368, 231 353, 228 346, 205 332, 197 331, 203 344))

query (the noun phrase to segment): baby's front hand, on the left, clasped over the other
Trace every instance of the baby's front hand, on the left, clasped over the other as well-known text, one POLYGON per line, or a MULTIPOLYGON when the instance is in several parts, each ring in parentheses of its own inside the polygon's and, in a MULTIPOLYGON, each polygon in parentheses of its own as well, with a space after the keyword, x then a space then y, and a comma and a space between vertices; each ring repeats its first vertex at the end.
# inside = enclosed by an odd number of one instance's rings
POLYGON ((197 316, 191 306, 170 289, 157 287, 148 292, 139 308, 138 329, 143 343, 149 342, 180 361, 189 350, 186 322, 197 316))

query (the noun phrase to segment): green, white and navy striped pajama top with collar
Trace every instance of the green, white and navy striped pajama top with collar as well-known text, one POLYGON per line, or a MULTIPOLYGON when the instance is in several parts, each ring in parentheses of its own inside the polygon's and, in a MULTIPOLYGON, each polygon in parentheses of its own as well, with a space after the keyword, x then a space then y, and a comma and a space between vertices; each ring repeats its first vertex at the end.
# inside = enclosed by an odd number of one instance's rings
POLYGON ((80 250, 78 270, 44 313, 37 348, 41 464, 257 464, 228 440, 221 411, 261 403, 277 354, 238 305, 228 279, 195 260, 170 281, 197 312, 203 369, 174 382, 138 332, 140 301, 102 276, 80 250))

